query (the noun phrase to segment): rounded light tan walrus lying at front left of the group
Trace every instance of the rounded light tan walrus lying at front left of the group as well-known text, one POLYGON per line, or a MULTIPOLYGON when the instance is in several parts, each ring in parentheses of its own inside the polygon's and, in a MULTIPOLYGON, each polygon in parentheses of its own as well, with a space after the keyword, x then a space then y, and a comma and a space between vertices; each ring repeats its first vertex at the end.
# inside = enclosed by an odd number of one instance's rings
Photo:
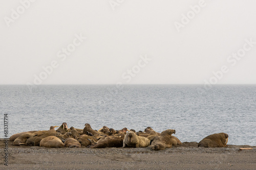
POLYGON ((40 147, 62 148, 64 143, 56 136, 47 136, 40 141, 40 147))

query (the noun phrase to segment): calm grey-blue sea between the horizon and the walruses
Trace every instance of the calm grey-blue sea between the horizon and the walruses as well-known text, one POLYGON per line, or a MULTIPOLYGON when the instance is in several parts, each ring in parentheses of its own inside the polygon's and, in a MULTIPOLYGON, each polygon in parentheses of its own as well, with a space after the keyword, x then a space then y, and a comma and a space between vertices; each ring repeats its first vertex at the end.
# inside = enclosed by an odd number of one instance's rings
POLYGON ((0 86, 9 136, 50 126, 93 129, 108 126, 157 132, 175 129, 182 142, 225 132, 228 144, 256 145, 256 86, 218 85, 45 85, 29 90, 22 85, 0 86))

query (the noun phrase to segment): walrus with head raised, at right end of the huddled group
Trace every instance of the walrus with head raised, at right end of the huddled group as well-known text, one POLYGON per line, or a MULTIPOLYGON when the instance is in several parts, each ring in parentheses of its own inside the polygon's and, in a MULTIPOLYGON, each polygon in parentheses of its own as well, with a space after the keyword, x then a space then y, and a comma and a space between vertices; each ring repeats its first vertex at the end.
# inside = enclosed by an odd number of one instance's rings
POLYGON ((150 148, 156 151, 172 148, 173 140, 175 140, 172 138, 172 134, 175 134, 175 132, 176 131, 174 129, 167 129, 163 131, 160 136, 153 137, 150 141, 150 148))

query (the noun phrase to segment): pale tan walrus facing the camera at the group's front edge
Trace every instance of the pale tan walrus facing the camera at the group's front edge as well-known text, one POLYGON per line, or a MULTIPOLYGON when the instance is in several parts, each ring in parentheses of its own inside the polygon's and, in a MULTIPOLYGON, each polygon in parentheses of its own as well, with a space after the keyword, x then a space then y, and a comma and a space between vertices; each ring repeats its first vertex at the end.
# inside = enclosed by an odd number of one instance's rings
POLYGON ((123 148, 147 147, 148 145, 150 145, 150 139, 143 136, 138 136, 133 131, 127 132, 123 139, 123 148))

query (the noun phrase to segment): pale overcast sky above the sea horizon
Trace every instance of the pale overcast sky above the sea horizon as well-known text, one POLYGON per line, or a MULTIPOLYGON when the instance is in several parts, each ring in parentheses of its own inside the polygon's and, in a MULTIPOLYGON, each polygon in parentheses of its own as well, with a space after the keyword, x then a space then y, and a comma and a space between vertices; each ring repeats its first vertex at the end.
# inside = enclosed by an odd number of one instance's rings
POLYGON ((1 0, 0 84, 255 84, 255 6, 1 0))

